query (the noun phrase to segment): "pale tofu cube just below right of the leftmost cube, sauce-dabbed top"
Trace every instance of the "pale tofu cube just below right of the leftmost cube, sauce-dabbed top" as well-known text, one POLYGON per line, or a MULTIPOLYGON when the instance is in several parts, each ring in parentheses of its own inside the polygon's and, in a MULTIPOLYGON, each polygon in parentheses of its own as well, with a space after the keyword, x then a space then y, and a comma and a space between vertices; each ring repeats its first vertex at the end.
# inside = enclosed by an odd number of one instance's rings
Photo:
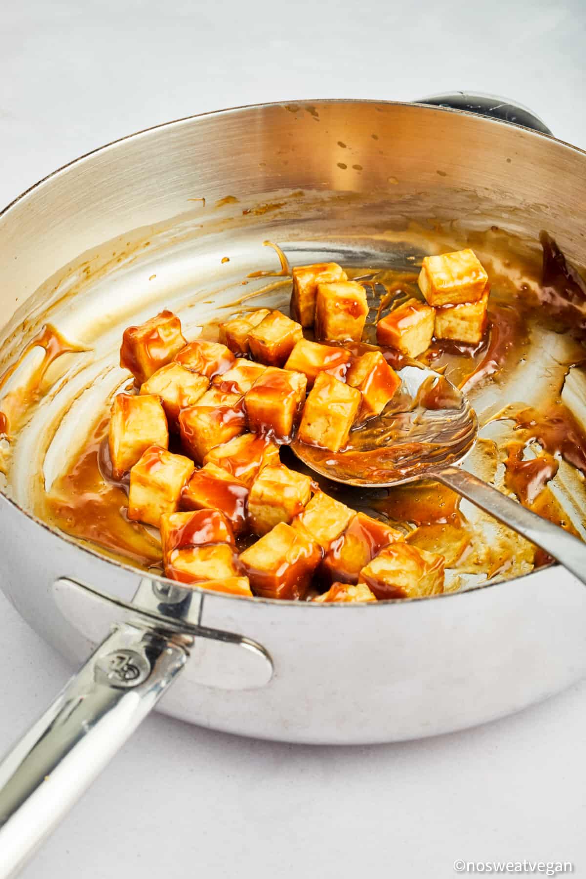
POLYGON ((130 470, 128 519, 159 526, 163 513, 176 512, 193 461, 151 446, 130 470))

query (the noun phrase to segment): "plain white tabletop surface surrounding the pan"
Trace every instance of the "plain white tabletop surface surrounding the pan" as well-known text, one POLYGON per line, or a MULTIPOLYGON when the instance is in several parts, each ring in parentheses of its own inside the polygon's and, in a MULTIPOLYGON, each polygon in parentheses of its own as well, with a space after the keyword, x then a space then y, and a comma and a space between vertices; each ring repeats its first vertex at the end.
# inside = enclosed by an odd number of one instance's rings
MULTIPOLYGON (((582 0, 0 5, 1 204, 124 134, 263 100, 491 91, 586 147, 582 0)), ((69 669, 1 596, 0 643, 2 752, 69 669)), ((371 748, 154 716, 24 875, 443 879, 459 858, 586 875, 585 730, 586 683, 476 730, 371 748)))

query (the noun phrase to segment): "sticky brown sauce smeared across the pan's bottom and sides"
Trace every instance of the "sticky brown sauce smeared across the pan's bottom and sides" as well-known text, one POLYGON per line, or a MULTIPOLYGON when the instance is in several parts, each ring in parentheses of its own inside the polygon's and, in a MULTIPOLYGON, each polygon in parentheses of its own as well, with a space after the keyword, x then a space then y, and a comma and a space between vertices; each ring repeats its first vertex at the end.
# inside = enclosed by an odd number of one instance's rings
MULTIPOLYGON (((471 396, 473 406, 476 400, 481 400, 486 389, 495 385, 503 388, 503 410, 496 418, 509 419, 513 427, 510 435, 496 445, 496 461, 503 465, 503 481, 499 487, 509 490, 535 512, 568 530, 575 530, 554 498, 549 483, 558 478, 561 460, 586 473, 586 437, 581 425, 561 405, 560 385, 548 389, 539 406, 526 404, 516 398, 507 399, 506 393, 510 373, 530 359, 535 345, 532 341, 535 328, 546 328, 547 331, 563 333, 581 341, 586 327, 586 288, 582 277, 565 263, 560 251, 547 237, 542 237, 544 254, 541 275, 532 260, 524 265, 512 250, 512 255, 507 256, 506 236, 500 230, 492 229, 484 236, 474 233, 468 243, 478 249, 479 255, 492 251, 496 254, 492 265, 487 265, 487 261, 483 260, 488 267, 492 289, 488 330, 480 345, 435 342, 422 361, 434 370, 444 372, 450 381, 464 389, 471 396), (507 410, 507 403, 511 410, 507 410), (525 448, 531 443, 537 443, 541 453, 525 460, 525 448)), ((458 246, 460 242, 443 246, 442 250, 453 250, 458 246)), ((290 285, 286 275, 290 269, 285 255, 276 250, 280 271, 253 274, 258 277, 283 276, 283 280, 276 281, 267 290, 274 294, 282 288, 282 304, 279 307, 287 311, 290 285)), ((373 350, 374 325, 387 309, 392 309, 411 296, 420 298, 416 287, 416 267, 414 261, 413 271, 404 267, 392 270, 368 265, 347 269, 349 277, 365 284, 371 306, 365 341, 349 346, 353 354, 373 350)), ((256 293, 241 297, 235 295, 232 310, 242 310, 242 303, 247 301, 248 304, 250 299, 256 307, 260 304, 254 301, 256 296, 256 293)), ((29 351, 34 345, 40 345, 47 352, 44 366, 36 376, 37 390, 32 391, 31 399, 38 399, 42 393, 42 375, 55 357, 63 352, 80 350, 62 339, 58 343, 58 334, 52 328, 47 327, 47 334, 47 337, 41 335, 33 340, 26 349, 29 351)), ((217 338, 217 322, 206 325, 201 338, 217 338)), ((310 333, 307 338, 311 338, 310 333)), ((401 368, 409 362, 402 354, 390 349, 384 351, 384 356, 394 368, 401 368)), ((582 360, 586 360, 586 351, 582 360)), ((572 362, 580 362, 580 358, 576 357, 572 362)), ((571 363, 568 363, 569 366, 571 363)), ((4 401, 6 399, 10 403, 10 395, 4 397, 4 401)), ((4 401, 0 404, 0 434, 11 431, 14 418, 14 404, 7 407, 4 401)), ((21 398, 20 402, 25 401, 21 398)), ((23 408, 26 410, 26 405, 23 408)), ((143 569, 152 569, 161 560, 160 544, 150 529, 127 519, 127 486, 112 480, 105 451, 106 432, 107 414, 104 413, 104 418, 98 418, 76 460, 69 462, 61 476, 54 481, 44 500, 43 516, 55 527, 102 548, 110 556, 119 557, 143 569)), ((282 450, 281 454, 288 466, 297 466, 288 450, 282 450)), ((416 545, 443 552, 446 560, 449 558, 454 570, 459 573, 508 577, 527 570, 522 564, 531 567, 532 564, 549 561, 545 554, 533 552, 532 548, 528 550, 526 541, 510 532, 499 531, 492 545, 488 546, 487 541, 482 540, 475 522, 468 521, 461 512, 459 497, 437 484, 422 483, 390 490, 364 491, 348 490, 344 486, 328 483, 327 490, 354 508, 399 527, 416 545)), ((250 542, 250 538, 239 537, 239 548, 243 548, 247 542, 250 542)))

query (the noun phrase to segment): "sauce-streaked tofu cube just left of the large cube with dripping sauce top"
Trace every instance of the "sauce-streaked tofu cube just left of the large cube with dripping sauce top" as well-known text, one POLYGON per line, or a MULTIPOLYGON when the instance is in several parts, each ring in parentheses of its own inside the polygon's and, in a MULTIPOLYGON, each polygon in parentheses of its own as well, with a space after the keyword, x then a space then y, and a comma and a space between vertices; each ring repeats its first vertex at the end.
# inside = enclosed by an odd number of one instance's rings
POLYGON ((246 430, 243 397, 210 388, 195 406, 179 412, 179 432, 184 448, 202 463, 214 446, 228 442, 246 430))

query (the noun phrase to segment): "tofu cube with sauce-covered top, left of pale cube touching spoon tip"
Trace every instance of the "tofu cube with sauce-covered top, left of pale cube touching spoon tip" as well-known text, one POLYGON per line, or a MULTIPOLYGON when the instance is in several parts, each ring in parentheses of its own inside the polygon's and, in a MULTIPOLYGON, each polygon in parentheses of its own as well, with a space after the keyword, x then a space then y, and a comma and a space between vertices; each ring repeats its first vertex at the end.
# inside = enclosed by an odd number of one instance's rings
POLYGON ((305 403, 306 388, 304 374, 267 367, 244 396, 250 430, 289 442, 305 403))

